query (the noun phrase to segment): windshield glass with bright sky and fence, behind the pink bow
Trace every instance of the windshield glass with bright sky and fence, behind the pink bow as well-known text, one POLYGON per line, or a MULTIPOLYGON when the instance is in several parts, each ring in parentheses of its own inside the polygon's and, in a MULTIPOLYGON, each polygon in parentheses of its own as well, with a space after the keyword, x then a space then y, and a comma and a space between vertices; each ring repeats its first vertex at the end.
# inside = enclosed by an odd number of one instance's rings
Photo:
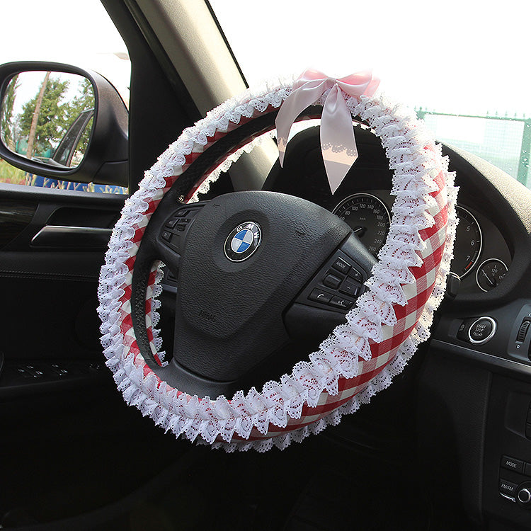
POLYGON ((531 188, 531 4, 210 4, 250 86, 309 67, 333 77, 372 69, 382 91, 416 110, 438 140, 483 157, 531 188))

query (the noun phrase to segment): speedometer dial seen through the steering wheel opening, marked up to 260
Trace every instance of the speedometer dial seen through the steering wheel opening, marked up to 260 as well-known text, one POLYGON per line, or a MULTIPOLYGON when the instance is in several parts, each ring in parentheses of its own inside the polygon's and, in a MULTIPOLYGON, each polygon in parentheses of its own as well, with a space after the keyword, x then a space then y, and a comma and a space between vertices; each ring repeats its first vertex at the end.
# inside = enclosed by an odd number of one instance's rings
POLYGON ((389 210, 382 200, 370 193, 355 193, 341 201, 333 213, 348 223, 362 244, 377 256, 391 224, 389 210))

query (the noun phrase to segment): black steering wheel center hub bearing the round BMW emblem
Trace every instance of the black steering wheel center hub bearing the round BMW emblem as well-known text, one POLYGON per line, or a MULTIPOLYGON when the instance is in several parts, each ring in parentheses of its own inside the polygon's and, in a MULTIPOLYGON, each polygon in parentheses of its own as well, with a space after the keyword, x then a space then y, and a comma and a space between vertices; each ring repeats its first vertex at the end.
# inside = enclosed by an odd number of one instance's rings
POLYGON ((289 195, 208 202, 182 253, 174 359, 221 381, 251 370, 287 342, 282 312, 348 234, 328 210, 289 195))

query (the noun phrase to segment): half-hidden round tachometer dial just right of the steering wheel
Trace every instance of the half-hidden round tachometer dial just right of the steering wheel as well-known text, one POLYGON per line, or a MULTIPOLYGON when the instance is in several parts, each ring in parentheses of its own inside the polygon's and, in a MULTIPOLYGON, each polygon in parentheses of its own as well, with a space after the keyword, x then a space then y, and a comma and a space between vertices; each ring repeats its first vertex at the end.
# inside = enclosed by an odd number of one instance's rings
POLYGON ((483 246, 483 236, 477 219, 466 208, 455 207, 459 224, 455 234, 454 259, 450 269, 463 278, 476 265, 483 246))

